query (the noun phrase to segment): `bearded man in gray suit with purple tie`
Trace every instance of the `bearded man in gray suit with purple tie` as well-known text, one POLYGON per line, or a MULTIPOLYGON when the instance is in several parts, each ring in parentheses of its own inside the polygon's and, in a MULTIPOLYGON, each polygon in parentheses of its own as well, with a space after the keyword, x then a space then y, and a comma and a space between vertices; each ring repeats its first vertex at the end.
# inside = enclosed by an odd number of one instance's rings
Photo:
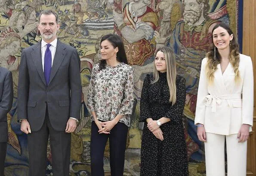
POLYGON ((59 27, 55 12, 42 11, 42 40, 21 55, 18 121, 28 134, 30 176, 45 176, 48 137, 53 175, 69 175, 71 132, 80 118, 80 58, 76 49, 57 40, 59 27))

